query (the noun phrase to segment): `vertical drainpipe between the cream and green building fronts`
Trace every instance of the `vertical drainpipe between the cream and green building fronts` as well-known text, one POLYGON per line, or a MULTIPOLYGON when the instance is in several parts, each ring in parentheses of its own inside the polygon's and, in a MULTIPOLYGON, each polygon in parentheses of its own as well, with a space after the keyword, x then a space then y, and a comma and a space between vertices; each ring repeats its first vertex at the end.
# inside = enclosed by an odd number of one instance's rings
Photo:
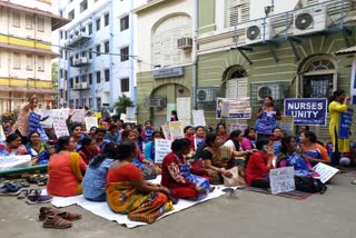
MULTIPOLYGON (((199 28, 199 0, 195 2, 195 16, 196 19, 194 21, 194 36, 192 36, 192 90, 197 88, 197 68, 198 68, 198 56, 197 56, 197 37, 198 37, 198 28, 199 28)), ((197 108, 197 97, 196 93, 192 93, 192 108, 197 108)))

